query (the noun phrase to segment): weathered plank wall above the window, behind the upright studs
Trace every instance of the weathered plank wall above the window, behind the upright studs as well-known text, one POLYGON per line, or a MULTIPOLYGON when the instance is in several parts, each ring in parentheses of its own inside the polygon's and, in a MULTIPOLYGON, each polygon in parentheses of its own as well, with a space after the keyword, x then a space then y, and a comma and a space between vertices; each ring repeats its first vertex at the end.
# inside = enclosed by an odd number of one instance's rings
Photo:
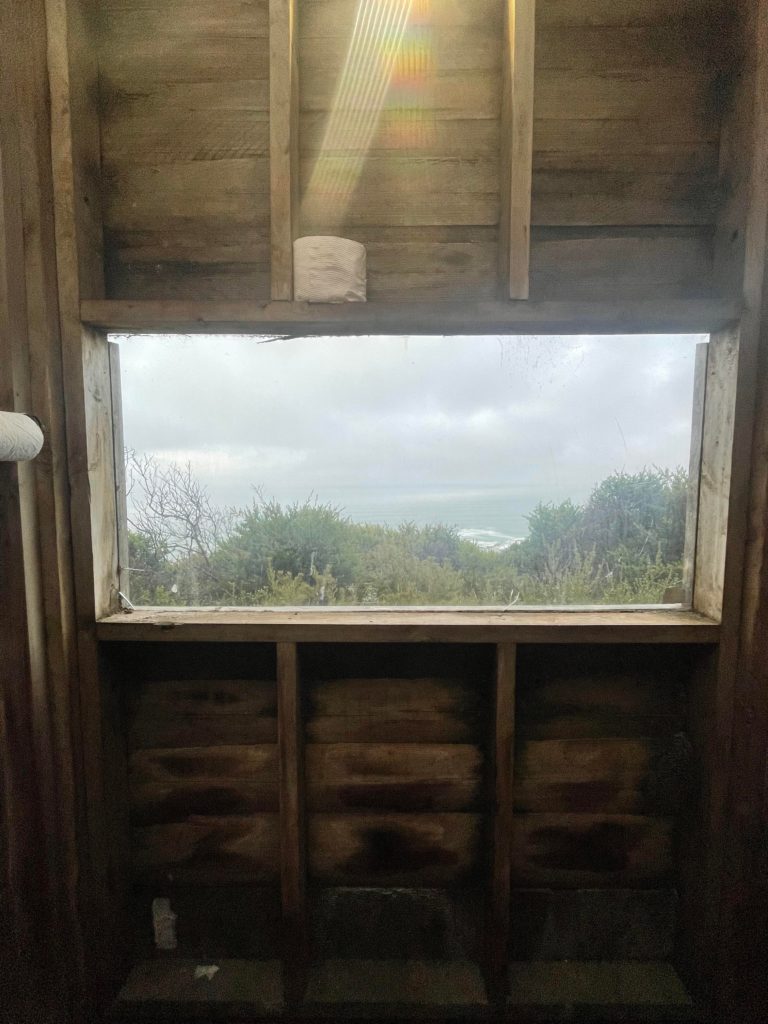
MULTIPOLYGON (((364 242, 371 299, 497 293, 503 6, 417 0, 367 125, 356 0, 299 4, 300 231, 364 242)), ((110 297, 268 298, 267 7, 101 0, 110 297)), ((531 298, 712 294, 728 9, 539 0, 531 298)))

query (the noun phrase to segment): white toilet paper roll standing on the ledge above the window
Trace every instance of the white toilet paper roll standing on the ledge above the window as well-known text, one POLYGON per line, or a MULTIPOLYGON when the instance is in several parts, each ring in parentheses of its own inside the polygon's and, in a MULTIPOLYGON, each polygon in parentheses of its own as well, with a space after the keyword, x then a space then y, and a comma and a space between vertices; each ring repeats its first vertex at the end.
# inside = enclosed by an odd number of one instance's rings
POLYGON ((333 234, 308 234, 293 244, 297 302, 365 302, 366 247, 333 234))

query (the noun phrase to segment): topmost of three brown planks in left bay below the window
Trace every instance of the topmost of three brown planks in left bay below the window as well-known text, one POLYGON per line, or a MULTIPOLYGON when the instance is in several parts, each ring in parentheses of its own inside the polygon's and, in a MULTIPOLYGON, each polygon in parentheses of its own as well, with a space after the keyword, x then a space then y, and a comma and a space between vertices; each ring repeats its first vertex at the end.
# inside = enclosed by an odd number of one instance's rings
POLYGON ((278 740, 278 692, 270 680, 163 679, 128 693, 130 745, 238 746, 278 740))

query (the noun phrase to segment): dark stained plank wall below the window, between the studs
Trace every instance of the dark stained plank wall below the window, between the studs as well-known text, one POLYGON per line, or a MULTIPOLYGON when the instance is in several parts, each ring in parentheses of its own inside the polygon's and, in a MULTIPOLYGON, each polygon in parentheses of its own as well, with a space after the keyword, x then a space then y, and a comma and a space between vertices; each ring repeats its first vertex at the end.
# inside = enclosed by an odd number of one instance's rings
MULTIPOLYGON (((696 650, 519 648, 512 958, 672 955, 680 811, 697 785, 685 731, 696 650)), ((180 953, 273 956, 274 647, 104 652, 129 746, 133 955, 151 951, 152 899, 168 896, 180 953)), ((484 955, 494 653, 299 646, 315 957, 484 955)))

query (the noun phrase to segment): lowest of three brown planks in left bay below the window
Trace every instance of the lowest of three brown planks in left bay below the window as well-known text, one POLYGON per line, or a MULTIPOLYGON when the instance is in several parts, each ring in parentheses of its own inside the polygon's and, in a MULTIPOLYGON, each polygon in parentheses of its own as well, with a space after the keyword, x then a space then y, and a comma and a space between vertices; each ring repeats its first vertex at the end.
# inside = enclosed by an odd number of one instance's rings
POLYGON ((281 871, 280 817, 189 817, 133 829, 133 866, 145 883, 273 883, 281 871))

